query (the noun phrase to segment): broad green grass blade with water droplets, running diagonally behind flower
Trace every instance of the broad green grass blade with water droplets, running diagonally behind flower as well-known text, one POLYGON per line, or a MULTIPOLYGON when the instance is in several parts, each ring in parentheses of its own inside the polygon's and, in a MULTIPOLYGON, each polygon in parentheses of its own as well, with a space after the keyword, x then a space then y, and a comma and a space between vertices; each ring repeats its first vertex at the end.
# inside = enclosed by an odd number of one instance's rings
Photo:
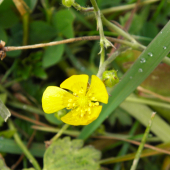
MULTIPOLYGON (((139 86, 170 51, 170 22, 142 52, 120 83, 114 88, 100 116, 83 128, 78 138, 87 139, 118 105, 139 86), (141 62, 142 61, 142 62, 141 62), (145 61, 145 62, 143 62, 145 61)), ((161 126, 161 124, 159 125, 161 126)), ((169 127, 170 129, 170 127, 169 127)))

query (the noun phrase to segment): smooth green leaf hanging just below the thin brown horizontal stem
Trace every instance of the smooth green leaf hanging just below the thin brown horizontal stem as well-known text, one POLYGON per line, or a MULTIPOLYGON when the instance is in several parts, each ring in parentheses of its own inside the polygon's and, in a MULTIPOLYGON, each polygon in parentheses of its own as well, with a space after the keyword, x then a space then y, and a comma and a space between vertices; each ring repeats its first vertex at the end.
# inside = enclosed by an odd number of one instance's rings
MULTIPOLYGON (((57 38, 55 41, 59 41, 59 40, 62 39, 57 38)), ((64 44, 47 47, 43 55, 43 62, 42 62, 43 67, 48 68, 58 63, 61 60, 63 53, 64 53, 64 44)))

